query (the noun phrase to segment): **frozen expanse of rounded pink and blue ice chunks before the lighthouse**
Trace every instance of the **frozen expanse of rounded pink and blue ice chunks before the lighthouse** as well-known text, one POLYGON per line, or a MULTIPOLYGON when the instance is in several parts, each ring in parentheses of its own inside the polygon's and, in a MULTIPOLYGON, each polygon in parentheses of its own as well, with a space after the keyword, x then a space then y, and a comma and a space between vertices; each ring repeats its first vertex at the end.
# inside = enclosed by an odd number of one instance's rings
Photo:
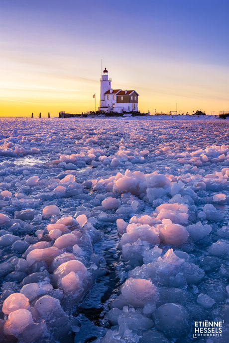
POLYGON ((1 342, 228 342, 229 122, 159 118, 0 119, 1 342))

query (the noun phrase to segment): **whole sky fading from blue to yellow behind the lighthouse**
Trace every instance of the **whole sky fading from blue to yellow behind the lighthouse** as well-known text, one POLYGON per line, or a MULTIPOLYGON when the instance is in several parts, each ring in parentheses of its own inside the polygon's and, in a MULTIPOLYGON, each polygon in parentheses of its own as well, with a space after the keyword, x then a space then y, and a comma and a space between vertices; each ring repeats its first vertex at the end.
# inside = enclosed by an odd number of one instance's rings
MULTIPOLYGON (((138 109, 229 110, 228 0, 0 0, 0 116, 81 113, 101 60, 138 109)), ((215 113, 216 114, 216 113, 215 113)))

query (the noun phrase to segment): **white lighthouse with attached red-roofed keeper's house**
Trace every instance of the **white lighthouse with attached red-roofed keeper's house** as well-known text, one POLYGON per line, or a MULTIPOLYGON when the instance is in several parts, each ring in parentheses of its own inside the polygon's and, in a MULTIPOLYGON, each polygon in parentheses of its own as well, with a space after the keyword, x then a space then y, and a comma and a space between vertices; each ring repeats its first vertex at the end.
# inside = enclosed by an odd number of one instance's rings
POLYGON ((112 79, 108 78, 108 70, 105 68, 100 79, 99 110, 107 113, 138 111, 138 96, 135 90, 112 89, 112 79))

